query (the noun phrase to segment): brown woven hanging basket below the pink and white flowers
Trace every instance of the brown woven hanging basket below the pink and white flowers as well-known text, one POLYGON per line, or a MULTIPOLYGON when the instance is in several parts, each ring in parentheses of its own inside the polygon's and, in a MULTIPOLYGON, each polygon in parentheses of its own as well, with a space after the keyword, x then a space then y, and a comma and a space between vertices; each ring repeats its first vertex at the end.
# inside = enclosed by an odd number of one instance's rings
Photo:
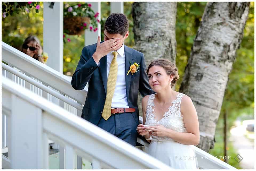
POLYGON ((89 25, 90 18, 80 17, 80 16, 64 17, 63 29, 69 35, 81 35, 84 32, 84 29, 81 29, 81 26, 83 23, 86 23, 87 25, 89 25))

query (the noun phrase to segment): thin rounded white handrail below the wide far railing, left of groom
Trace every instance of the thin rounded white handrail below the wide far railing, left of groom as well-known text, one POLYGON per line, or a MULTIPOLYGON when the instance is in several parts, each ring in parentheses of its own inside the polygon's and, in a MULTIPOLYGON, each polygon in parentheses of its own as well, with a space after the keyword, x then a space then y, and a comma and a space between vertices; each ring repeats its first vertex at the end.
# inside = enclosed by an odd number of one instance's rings
POLYGON ((2 68, 11 72, 12 74, 18 76, 19 78, 33 84, 34 86, 37 86, 38 88, 42 89, 43 91, 57 97, 58 99, 66 102, 67 104, 73 106, 74 108, 77 108, 78 110, 82 111, 83 107, 79 104, 77 104, 76 102, 74 102, 73 100, 68 99, 67 97, 61 95, 60 93, 57 93, 56 91, 50 89, 49 87, 44 86, 43 84, 40 84, 38 82, 36 82, 35 80, 33 80, 32 78, 29 78, 28 76, 26 76, 25 74, 20 73, 19 71, 13 69, 12 67, 2 63, 2 68))

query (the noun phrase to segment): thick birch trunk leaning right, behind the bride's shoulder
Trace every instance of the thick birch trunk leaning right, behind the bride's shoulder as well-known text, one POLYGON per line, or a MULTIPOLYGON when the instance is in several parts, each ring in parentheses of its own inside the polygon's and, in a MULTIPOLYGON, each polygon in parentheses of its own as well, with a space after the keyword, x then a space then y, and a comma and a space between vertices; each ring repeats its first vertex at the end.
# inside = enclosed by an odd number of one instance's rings
POLYGON ((185 69, 180 92, 190 96, 195 105, 200 127, 198 147, 206 152, 214 147, 228 76, 243 38, 249 5, 208 2, 185 69))

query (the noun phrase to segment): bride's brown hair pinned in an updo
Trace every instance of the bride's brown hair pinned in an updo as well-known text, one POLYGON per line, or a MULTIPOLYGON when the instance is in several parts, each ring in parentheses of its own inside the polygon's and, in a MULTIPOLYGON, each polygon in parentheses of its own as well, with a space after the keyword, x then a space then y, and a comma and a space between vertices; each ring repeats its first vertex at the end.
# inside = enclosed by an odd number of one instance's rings
POLYGON ((161 66, 163 67, 167 75, 173 75, 173 80, 171 81, 171 88, 173 88, 173 86, 177 83, 179 79, 178 68, 175 66, 175 64, 169 61, 168 59, 155 59, 153 62, 149 64, 149 67, 147 68, 147 75, 149 75, 149 69, 152 66, 161 66))

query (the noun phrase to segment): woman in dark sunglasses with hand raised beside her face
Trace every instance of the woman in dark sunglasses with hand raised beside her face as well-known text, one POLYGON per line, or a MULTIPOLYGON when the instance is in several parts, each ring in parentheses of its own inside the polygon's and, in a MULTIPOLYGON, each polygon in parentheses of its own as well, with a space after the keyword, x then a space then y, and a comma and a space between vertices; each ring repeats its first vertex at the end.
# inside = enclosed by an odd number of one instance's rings
POLYGON ((36 36, 29 36, 25 39, 24 43, 22 44, 23 53, 31 56, 32 58, 45 63, 42 58, 42 46, 40 45, 40 41, 36 36))

